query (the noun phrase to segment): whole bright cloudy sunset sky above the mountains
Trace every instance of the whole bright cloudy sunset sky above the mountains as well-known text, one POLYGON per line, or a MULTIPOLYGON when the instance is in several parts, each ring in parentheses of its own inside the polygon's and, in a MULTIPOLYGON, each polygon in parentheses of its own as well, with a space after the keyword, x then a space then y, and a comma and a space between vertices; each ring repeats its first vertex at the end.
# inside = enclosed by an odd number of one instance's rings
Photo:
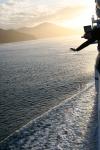
POLYGON ((79 28, 91 23, 95 0, 0 0, 0 28, 14 29, 51 22, 79 28))

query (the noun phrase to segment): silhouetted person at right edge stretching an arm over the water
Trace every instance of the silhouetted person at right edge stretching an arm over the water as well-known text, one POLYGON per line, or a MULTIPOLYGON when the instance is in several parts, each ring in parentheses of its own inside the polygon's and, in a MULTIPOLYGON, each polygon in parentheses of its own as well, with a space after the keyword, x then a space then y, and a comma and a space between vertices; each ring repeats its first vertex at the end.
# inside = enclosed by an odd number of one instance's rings
POLYGON ((81 44, 78 48, 71 48, 72 51, 80 51, 95 41, 98 41, 98 56, 95 65, 95 89, 96 93, 99 92, 99 80, 100 80, 100 28, 94 27, 91 31, 86 32, 83 38, 88 39, 86 42, 81 44))

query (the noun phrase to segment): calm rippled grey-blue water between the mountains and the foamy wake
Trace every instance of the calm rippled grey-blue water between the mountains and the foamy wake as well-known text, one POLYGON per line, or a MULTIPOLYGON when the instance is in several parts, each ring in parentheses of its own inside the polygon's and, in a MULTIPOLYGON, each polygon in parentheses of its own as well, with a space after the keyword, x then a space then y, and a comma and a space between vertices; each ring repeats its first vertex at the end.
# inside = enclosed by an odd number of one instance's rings
POLYGON ((93 80, 96 47, 69 50, 81 42, 64 37, 0 46, 0 140, 93 80))

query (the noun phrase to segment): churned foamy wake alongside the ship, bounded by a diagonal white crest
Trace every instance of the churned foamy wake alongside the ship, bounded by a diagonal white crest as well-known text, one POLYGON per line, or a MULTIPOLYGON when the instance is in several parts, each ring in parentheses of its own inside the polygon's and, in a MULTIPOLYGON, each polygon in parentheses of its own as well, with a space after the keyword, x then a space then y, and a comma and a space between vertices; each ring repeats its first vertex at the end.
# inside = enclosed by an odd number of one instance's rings
POLYGON ((97 127, 94 83, 59 106, 31 121, 0 145, 19 149, 96 149, 97 127))

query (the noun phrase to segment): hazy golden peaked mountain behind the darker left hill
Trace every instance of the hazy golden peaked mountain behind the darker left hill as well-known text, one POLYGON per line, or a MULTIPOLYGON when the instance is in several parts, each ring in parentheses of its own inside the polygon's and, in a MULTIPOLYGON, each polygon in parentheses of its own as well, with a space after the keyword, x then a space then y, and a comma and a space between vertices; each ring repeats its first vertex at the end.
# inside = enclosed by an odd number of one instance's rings
POLYGON ((18 31, 34 35, 37 38, 66 36, 66 35, 73 35, 76 33, 75 30, 72 30, 70 28, 64 28, 48 22, 41 23, 31 28, 21 28, 18 31))

